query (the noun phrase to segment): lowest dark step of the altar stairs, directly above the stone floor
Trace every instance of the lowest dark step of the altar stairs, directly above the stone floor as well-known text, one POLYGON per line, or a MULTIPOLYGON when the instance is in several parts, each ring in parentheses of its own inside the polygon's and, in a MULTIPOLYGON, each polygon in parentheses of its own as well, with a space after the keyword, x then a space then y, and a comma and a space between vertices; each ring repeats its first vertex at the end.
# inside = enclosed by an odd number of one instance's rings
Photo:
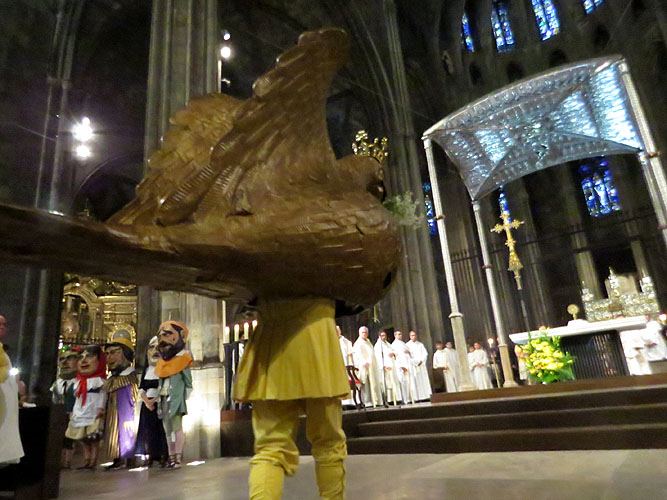
POLYGON ((350 454, 667 448, 667 424, 600 425, 349 438, 350 454))

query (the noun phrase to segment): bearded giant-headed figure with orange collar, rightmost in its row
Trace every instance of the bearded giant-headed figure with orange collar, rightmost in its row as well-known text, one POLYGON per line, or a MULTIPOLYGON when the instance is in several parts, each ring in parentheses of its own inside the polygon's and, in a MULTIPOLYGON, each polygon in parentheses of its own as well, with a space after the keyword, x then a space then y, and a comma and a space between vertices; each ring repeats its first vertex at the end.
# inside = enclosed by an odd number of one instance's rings
POLYGON ((192 356, 185 350, 188 329, 178 321, 165 321, 158 329, 160 359, 155 374, 158 385, 158 416, 162 420, 169 448, 170 469, 180 469, 185 436, 183 415, 188 413, 186 400, 192 390, 192 356))

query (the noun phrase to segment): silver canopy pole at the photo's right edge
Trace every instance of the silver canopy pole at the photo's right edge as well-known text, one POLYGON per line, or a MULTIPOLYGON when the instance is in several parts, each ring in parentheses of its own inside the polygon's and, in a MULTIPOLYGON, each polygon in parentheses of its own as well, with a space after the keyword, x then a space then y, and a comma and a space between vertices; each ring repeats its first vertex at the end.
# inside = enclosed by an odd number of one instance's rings
POLYGON ((653 140, 653 134, 648 125, 644 108, 639 101, 639 95, 632 81, 628 64, 625 61, 621 62, 619 69, 625 90, 628 93, 630 108, 639 129, 639 136, 644 145, 644 151, 639 152, 637 158, 639 158, 639 163, 642 166, 651 203, 658 219, 658 229, 662 233, 665 245, 667 245, 667 179, 665 178, 665 171, 662 168, 662 162, 660 161, 659 153, 653 140))

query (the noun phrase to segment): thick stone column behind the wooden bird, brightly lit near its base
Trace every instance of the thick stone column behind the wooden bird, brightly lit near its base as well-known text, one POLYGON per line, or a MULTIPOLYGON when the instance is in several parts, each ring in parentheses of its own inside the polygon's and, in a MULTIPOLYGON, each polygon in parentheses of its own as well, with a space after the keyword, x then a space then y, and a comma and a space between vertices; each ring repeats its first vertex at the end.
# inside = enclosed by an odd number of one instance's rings
MULTIPOLYGON (((218 14, 216 0, 154 0, 148 68, 145 156, 159 146, 169 117, 192 97, 217 91, 218 14)), ((161 319, 183 321, 189 328, 194 390, 184 419, 186 459, 220 456, 220 409, 224 376, 220 364, 220 301, 194 295, 144 291, 138 311, 138 343, 154 331, 156 304, 161 319), (153 294, 151 298, 150 295, 153 294), (148 305, 143 307, 142 304, 148 305), (171 318, 169 318, 171 316, 171 318)), ((142 292, 140 292, 140 299, 142 292)))

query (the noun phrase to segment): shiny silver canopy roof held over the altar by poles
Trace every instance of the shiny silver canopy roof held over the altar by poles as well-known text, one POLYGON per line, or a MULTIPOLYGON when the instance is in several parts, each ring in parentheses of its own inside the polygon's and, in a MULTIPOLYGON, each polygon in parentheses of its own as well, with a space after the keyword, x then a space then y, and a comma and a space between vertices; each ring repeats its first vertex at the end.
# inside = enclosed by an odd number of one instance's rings
POLYGON ((621 56, 581 61, 513 83, 443 118, 423 138, 458 166, 473 200, 527 174, 642 141, 621 56))

